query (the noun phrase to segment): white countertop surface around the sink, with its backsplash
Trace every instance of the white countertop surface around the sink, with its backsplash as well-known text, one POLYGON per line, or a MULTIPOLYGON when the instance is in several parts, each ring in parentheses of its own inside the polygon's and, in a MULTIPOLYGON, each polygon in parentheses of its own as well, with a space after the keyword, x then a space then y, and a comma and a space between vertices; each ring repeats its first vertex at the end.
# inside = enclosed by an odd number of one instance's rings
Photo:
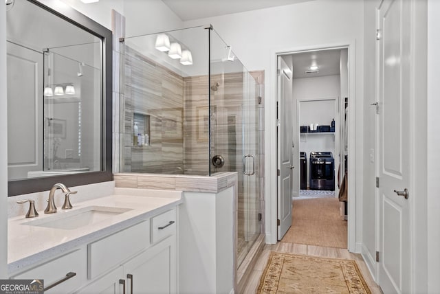
POLYGON ((71 197, 71 202, 74 206, 72 210, 62 210, 58 207, 58 212, 55 214, 39 212, 36 218, 17 216, 8 220, 9 273, 16 273, 31 264, 58 256, 74 247, 98 240, 150 216, 170 210, 179 205, 182 198, 181 192, 176 191, 115 188, 113 195, 80 203, 75 203, 74 198, 71 197), (78 229, 54 229, 25 224, 32 221, 42 222, 49 218, 61 218, 69 212, 84 210, 85 207, 93 205, 128 208, 129 211, 109 216, 78 229))

